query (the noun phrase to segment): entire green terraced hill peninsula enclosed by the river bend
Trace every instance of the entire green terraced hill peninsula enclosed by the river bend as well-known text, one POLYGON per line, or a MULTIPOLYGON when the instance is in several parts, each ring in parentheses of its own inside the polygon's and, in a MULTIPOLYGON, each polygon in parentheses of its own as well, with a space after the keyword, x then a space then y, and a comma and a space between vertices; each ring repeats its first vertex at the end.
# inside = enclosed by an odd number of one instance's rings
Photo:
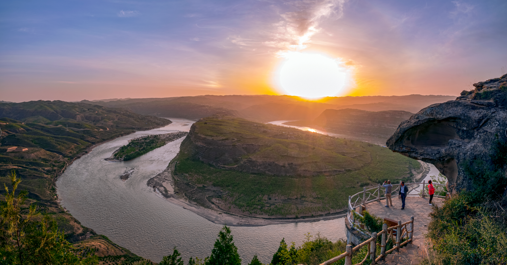
POLYGON ((389 149, 235 117, 195 123, 170 163, 174 195, 262 218, 308 218, 345 209, 348 195, 385 179, 412 180, 420 164, 389 149))

